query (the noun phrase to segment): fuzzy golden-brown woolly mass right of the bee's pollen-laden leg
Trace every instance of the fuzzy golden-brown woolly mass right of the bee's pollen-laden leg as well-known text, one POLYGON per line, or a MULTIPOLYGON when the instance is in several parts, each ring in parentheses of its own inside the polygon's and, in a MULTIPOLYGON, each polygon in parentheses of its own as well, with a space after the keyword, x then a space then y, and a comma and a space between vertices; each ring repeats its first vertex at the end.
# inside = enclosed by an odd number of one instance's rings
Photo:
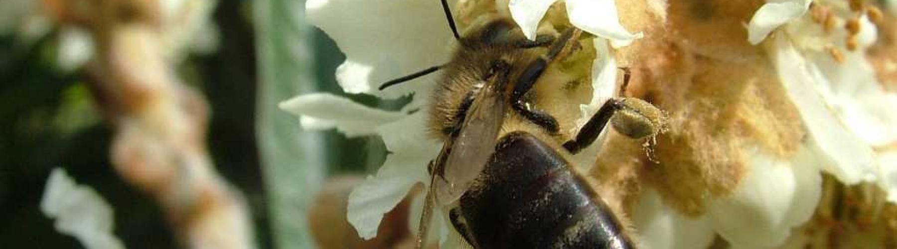
POLYGON ((658 163, 642 142, 616 134, 598 155, 591 175, 627 206, 640 182, 676 210, 701 215, 708 197, 731 193, 745 175, 745 147, 783 158, 797 151, 805 133, 797 109, 762 47, 746 38, 744 23, 762 3, 670 1, 666 19, 620 5, 624 26, 645 34, 618 55, 632 70, 628 95, 669 115, 669 131, 654 146, 658 163))

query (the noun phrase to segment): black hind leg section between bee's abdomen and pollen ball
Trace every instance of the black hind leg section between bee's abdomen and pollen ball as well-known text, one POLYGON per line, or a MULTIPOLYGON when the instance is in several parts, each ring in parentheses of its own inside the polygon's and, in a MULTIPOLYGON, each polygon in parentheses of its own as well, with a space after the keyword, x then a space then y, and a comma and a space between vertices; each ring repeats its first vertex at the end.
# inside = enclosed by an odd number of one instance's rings
POLYGON ((611 116, 614 116, 614 112, 621 108, 623 108, 623 100, 607 99, 607 102, 598 109, 598 112, 588 119, 586 125, 582 125, 579 133, 576 134, 576 138, 563 143, 563 148, 570 151, 571 154, 576 154, 579 153, 579 150, 591 145, 598 138, 598 135, 601 134, 601 131, 605 129, 607 121, 611 119, 611 116))

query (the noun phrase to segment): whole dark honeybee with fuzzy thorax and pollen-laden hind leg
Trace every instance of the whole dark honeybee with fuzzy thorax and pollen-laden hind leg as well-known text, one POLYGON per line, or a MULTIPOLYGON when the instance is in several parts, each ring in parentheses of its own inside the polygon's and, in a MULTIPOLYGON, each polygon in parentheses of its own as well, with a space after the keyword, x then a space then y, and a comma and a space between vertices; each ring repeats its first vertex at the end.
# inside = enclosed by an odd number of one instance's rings
MULTIPOLYGON (((570 141, 558 121, 528 98, 545 70, 579 46, 581 30, 526 39, 493 18, 457 33, 447 64, 386 82, 380 90, 443 70, 430 125, 444 142, 428 166, 431 185, 417 232, 422 248, 434 206, 475 248, 631 248, 620 220, 570 164, 605 125, 632 138, 658 133, 660 111, 640 99, 609 99, 570 141)), ((628 75, 628 71, 626 71, 628 75)), ((628 82, 624 77, 624 82, 628 82)), ((542 82, 550 83, 550 82, 542 82)))

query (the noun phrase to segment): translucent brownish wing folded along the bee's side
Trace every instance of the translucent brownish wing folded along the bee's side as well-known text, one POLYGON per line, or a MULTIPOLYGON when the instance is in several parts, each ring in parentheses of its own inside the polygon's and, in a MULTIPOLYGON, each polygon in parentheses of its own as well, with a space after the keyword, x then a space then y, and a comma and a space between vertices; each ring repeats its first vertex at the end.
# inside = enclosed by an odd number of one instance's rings
MULTIPOLYGON (((501 85, 501 84, 499 84, 501 85)), ((505 99, 496 84, 486 83, 467 109, 464 124, 454 141, 442 153, 448 153, 442 177, 434 177, 436 200, 455 202, 474 182, 495 150, 496 137, 504 119, 505 99), (449 147, 450 146, 450 147, 449 147)))

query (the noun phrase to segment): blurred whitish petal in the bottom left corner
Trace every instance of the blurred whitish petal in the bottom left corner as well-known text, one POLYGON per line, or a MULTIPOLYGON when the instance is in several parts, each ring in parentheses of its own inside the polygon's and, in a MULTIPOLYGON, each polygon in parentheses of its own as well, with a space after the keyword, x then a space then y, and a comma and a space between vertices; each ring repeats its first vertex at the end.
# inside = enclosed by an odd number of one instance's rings
POLYGON ((75 185, 65 170, 54 168, 44 188, 40 210, 58 232, 74 236, 88 249, 119 249, 125 246, 112 234, 112 207, 88 186, 75 185))

